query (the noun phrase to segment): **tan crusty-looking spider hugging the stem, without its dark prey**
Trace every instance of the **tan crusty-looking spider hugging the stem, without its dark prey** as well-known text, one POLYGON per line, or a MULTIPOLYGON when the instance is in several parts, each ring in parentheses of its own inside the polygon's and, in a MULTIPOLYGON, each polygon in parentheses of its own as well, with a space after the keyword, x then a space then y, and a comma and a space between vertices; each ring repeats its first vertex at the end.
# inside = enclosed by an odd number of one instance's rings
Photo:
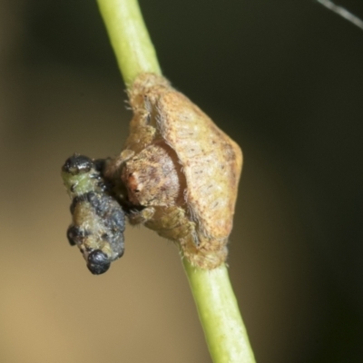
POLYGON ((160 75, 140 74, 129 98, 130 135, 106 178, 120 199, 141 207, 130 213, 132 224, 176 241, 194 266, 220 266, 228 254, 240 147, 160 75))

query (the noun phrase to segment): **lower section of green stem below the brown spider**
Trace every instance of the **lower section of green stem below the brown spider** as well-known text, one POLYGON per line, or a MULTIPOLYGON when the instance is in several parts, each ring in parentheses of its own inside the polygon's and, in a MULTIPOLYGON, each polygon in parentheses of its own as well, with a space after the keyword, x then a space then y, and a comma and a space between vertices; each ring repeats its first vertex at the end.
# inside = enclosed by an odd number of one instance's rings
POLYGON ((186 259, 183 265, 213 362, 254 362, 226 265, 201 270, 192 267, 186 259))

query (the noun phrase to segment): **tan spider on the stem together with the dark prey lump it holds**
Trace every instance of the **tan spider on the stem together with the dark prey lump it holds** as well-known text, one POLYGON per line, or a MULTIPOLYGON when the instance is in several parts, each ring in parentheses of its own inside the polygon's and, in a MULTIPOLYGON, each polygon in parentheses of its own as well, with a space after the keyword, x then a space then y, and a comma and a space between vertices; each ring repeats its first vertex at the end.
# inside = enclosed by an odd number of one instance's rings
POLYGON ((160 75, 140 74, 129 98, 133 118, 123 152, 96 162, 74 154, 64 164, 73 199, 70 243, 93 274, 105 272, 123 255, 125 211, 131 224, 177 242, 192 265, 220 266, 228 255, 240 147, 160 75))

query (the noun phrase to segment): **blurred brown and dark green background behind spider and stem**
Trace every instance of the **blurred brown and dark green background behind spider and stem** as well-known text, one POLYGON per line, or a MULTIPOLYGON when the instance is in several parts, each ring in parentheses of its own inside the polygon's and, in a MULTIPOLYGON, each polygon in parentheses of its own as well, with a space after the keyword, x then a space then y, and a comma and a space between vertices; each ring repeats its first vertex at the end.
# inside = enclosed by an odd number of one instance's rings
MULTIPOLYGON (((258 362, 361 362, 363 32, 309 0, 141 5, 244 152, 229 263, 258 362)), ((65 238, 61 165, 120 152, 123 88, 94 1, 0 2, 2 363, 211 362, 171 242, 129 227, 94 277, 65 238)))

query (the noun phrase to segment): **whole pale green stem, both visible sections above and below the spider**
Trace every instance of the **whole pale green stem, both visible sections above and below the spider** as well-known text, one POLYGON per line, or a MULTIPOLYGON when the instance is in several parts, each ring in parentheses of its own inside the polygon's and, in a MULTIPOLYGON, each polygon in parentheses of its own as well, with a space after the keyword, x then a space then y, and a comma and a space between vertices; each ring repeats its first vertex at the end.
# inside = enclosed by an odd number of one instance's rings
MULTIPOLYGON (((161 74, 136 0, 97 0, 126 86, 144 72, 161 74)), ((253 363, 253 353, 226 266, 191 267, 183 260, 214 363, 253 363)))

